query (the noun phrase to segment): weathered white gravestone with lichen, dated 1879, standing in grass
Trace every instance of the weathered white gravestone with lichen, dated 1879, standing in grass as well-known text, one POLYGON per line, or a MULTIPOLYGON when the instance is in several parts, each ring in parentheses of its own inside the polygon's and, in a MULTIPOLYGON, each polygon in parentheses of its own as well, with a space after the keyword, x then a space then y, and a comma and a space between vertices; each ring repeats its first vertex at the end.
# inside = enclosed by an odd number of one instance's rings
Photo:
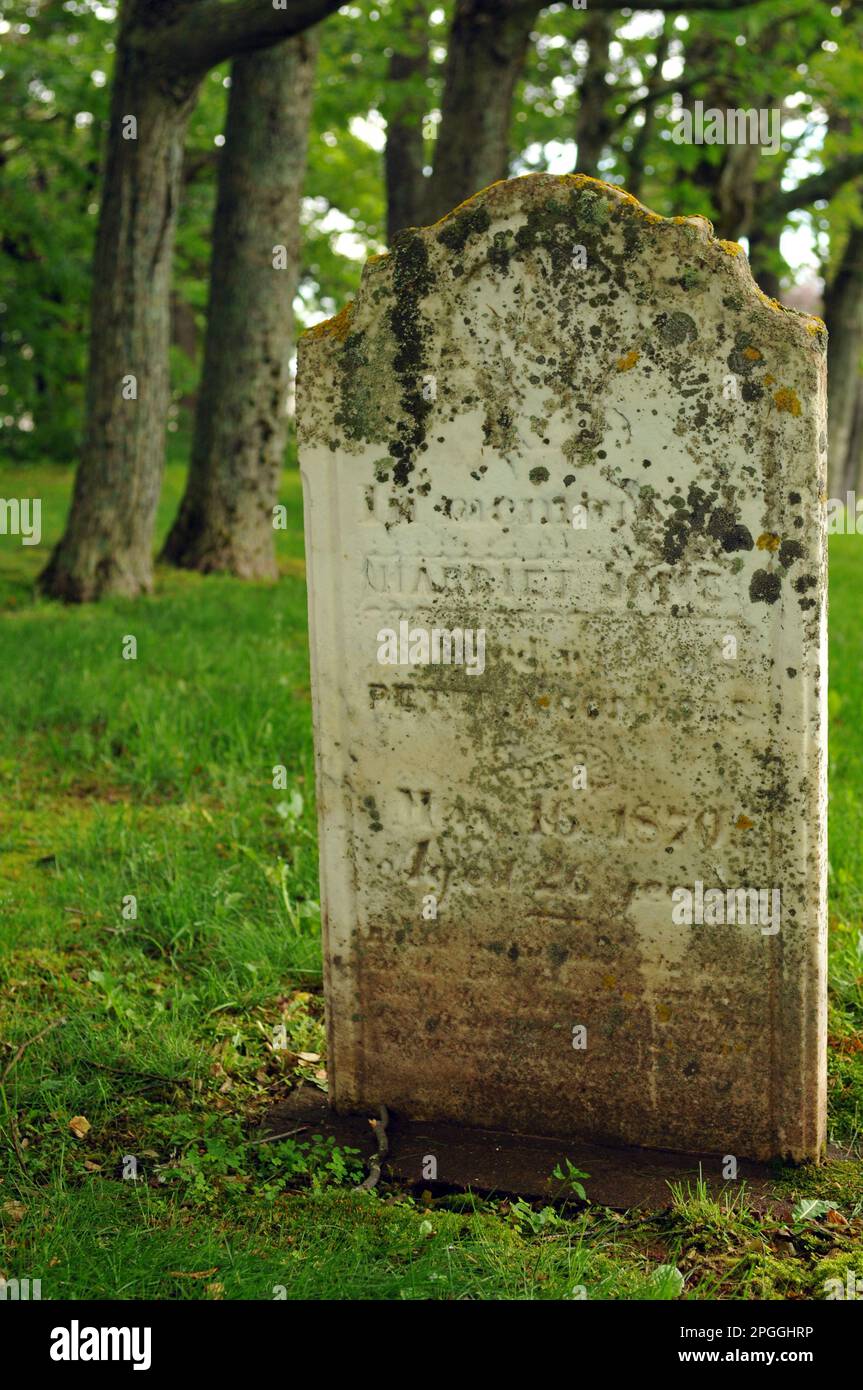
POLYGON ((581 175, 303 336, 336 1109, 819 1156, 824 363, 706 220, 581 175))

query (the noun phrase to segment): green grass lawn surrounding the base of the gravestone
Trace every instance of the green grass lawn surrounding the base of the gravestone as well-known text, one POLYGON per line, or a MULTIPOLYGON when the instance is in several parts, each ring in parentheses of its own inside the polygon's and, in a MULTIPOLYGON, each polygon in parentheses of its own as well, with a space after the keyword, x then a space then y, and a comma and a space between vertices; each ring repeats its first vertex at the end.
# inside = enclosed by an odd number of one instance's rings
MULTIPOLYGON (((182 481, 170 466, 160 537, 182 481)), ((40 546, 0 538, 4 1276, 43 1298, 267 1300, 823 1298, 863 1276, 859 538, 831 542, 830 623, 830 1130, 849 1156, 777 1170, 771 1201, 543 1209, 357 1194, 350 1152, 250 1141, 297 1077, 325 1084, 299 477, 278 585, 160 569, 153 598, 85 609, 33 596, 69 489, 4 470, 6 496, 43 499, 40 546)))

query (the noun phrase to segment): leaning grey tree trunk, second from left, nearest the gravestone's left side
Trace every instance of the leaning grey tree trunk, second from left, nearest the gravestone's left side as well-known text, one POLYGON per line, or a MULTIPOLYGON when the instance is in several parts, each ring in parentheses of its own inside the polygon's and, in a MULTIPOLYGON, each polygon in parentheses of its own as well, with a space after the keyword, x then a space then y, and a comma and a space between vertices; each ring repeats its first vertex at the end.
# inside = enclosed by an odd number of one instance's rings
POLYGON ((309 33, 231 68, 192 464, 163 552, 188 570, 246 580, 278 573, 272 509, 288 432, 315 56, 309 33))

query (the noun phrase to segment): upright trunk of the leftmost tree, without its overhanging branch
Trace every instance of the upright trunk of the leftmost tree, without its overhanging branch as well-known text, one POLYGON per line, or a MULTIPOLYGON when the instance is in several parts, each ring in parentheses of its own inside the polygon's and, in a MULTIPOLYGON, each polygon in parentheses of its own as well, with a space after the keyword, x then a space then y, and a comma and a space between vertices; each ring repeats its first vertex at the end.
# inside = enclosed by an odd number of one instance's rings
POLYGON ((65 535, 40 575, 43 592, 72 603, 150 589, 164 461, 171 256, 197 81, 154 83, 125 33, 121 22, 93 263, 83 455, 65 535), (124 138, 129 117, 136 139, 124 138))

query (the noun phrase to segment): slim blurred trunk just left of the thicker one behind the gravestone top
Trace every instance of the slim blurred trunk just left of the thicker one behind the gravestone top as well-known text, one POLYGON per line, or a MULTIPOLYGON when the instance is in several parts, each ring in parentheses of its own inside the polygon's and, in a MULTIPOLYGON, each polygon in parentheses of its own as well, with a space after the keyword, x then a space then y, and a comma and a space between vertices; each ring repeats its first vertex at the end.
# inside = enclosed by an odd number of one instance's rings
POLYGON ((425 221, 425 150, 422 121, 428 111, 428 17, 431 0, 403 0, 402 31, 389 60, 384 101, 386 117, 386 236, 425 221))

